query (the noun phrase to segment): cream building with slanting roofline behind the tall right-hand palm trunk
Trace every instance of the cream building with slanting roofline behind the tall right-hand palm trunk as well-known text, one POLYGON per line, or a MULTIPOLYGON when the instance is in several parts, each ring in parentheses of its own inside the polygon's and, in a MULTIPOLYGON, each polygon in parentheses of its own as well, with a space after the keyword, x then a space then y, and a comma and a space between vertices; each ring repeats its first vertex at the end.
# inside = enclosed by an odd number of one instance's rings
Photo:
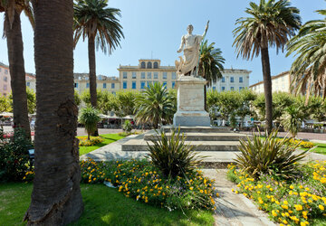
MULTIPOLYGON (((291 93, 291 76, 289 71, 272 76, 272 92, 291 93)), ((264 81, 257 82, 249 87, 255 93, 264 93, 264 81)))

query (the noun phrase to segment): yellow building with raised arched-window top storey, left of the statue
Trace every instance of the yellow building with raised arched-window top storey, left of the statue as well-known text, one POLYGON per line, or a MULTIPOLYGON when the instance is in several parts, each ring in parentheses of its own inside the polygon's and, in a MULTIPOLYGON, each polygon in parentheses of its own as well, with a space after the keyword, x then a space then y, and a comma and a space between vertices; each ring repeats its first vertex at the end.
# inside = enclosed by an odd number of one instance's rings
POLYGON ((149 84, 159 82, 168 89, 174 89, 177 70, 174 66, 161 66, 160 60, 139 60, 138 66, 122 66, 118 68, 120 89, 143 90, 149 84))

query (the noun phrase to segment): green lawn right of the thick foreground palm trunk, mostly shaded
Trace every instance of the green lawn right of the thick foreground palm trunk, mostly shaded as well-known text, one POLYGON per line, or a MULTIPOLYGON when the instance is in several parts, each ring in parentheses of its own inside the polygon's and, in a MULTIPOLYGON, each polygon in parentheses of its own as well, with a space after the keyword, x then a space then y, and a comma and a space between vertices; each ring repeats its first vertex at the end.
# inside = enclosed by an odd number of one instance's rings
POLYGON ((114 188, 102 184, 83 184, 85 210, 72 225, 212 225, 213 212, 168 212, 126 198, 114 188))

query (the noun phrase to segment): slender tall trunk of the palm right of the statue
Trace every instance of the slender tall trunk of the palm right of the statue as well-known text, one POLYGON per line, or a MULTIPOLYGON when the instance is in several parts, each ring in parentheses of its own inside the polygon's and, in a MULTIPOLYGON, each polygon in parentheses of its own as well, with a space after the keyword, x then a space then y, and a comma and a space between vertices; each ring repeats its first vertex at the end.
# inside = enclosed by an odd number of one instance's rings
POLYGON ((262 48, 262 66, 264 77, 264 97, 265 97, 265 116, 266 130, 271 133, 273 128, 273 100, 272 100, 272 79, 271 65, 269 61, 268 47, 262 48))

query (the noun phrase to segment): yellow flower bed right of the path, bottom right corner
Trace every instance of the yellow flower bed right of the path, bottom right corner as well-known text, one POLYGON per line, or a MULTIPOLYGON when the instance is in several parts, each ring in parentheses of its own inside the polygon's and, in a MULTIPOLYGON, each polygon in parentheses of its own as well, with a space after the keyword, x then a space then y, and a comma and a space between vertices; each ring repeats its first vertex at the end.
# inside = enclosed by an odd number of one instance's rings
POLYGON ((258 180, 245 172, 228 166, 228 178, 237 184, 235 193, 243 193, 254 200, 259 209, 268 212, 280 225, 324 225, 326 208, 326 161, 300 165, 302 175, 283 181, 271 175, 258 180), (323 219, 323 220, 322 220, 323 219))

